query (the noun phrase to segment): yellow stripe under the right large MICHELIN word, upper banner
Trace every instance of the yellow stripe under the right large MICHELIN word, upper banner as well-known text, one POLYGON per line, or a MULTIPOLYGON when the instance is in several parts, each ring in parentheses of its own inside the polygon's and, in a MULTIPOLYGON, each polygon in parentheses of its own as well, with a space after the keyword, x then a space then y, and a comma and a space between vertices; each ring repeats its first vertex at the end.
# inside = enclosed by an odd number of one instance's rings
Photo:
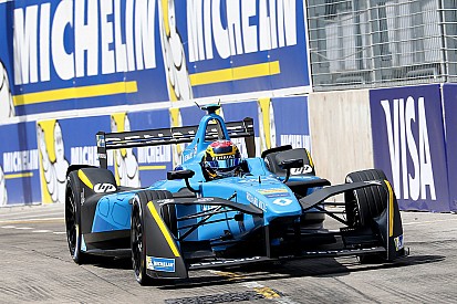
POLYGON ((281 69, 279 66, 279 61, 258 63, 251 65, 245 65, 232 69, 224 69, 210 72, 195 73, 189 75, 190 84, 193 86, 229 82, 229 81, 240 81, 247 78, 256 78, 262 76, 270 76, 280 74, 281 69))

